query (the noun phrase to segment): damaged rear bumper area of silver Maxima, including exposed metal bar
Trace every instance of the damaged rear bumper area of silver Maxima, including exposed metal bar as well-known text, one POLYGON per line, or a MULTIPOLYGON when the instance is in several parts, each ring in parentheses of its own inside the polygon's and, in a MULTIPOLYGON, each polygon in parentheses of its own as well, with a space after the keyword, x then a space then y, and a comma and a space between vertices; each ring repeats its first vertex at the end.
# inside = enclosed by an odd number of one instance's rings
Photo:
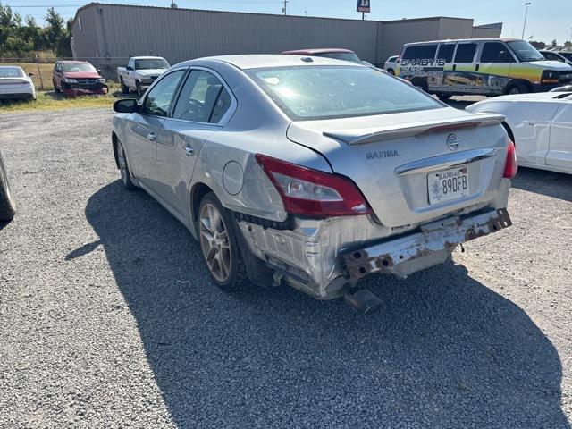
POLYGON ((401 278, 446 262, 458 244, 510 226, 506 209, 473 206, 437 222, 389 228, 370 216, 290 218, 287 225, 238 216, 250 252, 279 280, 316 299, 339 298, 370 273, 401 278))

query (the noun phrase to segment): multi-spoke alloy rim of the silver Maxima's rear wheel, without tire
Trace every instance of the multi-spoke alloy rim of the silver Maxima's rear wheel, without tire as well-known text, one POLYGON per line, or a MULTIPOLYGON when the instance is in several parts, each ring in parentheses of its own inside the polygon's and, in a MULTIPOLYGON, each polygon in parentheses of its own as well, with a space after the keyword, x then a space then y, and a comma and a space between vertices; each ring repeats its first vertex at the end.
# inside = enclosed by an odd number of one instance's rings
POLYGON ((200 247, 208 269, 219 282, 226 282, 231 275, 232 252, 228 231, 221 212, 206 203, 200 213, 200 247))

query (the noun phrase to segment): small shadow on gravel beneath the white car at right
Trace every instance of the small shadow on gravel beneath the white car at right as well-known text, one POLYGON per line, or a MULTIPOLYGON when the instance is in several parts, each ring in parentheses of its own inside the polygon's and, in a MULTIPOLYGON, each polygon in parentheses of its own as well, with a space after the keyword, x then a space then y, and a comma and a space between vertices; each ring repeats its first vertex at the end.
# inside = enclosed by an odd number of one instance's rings
POLYGON ((512 186, 547 197, 572 201, 572 174, 518 167, 518 173, 512 180, 512 186))

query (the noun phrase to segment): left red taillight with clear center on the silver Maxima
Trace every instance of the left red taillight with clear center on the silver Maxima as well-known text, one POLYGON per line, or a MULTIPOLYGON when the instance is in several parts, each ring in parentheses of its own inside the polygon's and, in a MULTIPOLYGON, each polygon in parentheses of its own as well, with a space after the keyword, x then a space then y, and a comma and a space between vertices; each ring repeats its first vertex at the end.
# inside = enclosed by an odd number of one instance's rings
POLYGON ((366 199, 347 178, 257 154, 258 164, 278 189, 290 214, 355 216, 371 214, 366 199))

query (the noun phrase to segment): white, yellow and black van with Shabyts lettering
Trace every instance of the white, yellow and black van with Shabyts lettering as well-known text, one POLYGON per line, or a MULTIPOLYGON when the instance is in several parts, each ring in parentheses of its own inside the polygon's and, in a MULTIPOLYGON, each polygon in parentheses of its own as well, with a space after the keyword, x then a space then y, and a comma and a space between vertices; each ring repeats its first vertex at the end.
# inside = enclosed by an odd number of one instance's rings
POLYGON ((572 67, 546 60, 525 40, 480 38, 403 46, 398 74, 442 98, 544 92, 572 82, 572 67))

